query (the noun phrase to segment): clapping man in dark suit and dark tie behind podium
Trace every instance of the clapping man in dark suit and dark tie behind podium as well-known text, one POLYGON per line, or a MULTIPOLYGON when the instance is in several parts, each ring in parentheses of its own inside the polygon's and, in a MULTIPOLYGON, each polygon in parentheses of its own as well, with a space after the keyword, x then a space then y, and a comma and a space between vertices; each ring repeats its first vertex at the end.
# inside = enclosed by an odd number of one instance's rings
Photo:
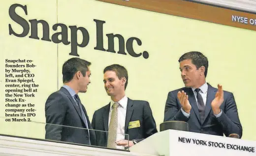
POLYGON ((189 131, 212 135, 242 137, 235 99, 222 86, 206 83, 208 60, 200 52, 189 52, 179 59, 185 88, 169 92, 164 121, 184 121, 189 131))

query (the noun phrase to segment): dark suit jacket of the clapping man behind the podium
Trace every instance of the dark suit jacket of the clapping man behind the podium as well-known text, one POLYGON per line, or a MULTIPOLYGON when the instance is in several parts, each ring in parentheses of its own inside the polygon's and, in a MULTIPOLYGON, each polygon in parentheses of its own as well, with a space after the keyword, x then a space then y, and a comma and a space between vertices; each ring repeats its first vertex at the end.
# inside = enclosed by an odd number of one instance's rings
POLYGON ((203 123, 200 122, 197 103, 191 88, 181 88, 169 92, 165 105, 164 122, 185 121, 189 124, 189 131, 192 132, 221 136, 223 136, 223 133, 225 134, 225 136, 228 136, 231 133, 236 133, 241 138, 242 125, 240 124, 238 118, 237 107, 232 93, 224 91, 224 102, 220 107, 223 113, 219 118, 216 118, 214 116, 211 102, 215 98, 217 90, 217 88, 213 88, 211 85, 208 84, 203 123), (192 106, 189 118, 185 117, 181 112, 182 106, 177 97, 179 91, 184 91, 189 95, 189 101, 192 106))

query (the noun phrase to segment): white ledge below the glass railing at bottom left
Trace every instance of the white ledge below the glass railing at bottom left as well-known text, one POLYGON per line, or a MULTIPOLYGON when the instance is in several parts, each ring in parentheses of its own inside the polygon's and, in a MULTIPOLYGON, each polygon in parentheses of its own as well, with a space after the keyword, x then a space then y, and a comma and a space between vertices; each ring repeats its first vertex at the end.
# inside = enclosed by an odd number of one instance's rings
POLYGON ((0 156, 152 156, 88 146, 0 136, 0 156))

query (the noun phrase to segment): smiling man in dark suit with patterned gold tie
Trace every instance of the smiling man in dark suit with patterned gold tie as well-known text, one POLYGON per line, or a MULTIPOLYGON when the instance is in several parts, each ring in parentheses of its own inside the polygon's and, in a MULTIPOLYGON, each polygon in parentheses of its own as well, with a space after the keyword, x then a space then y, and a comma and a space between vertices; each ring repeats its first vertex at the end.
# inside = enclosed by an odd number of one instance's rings
POLYGON ((125 90, 128 72, 124 66, 113 64, 105 67, 104 87, 111 97, 110 103, 98 109, 92 125, 96 130, 97 146, 124 149, 157 132, 156 122, 147 101, 131 100, 125 90), (129 134, 129 140, 124 134, 129 134))

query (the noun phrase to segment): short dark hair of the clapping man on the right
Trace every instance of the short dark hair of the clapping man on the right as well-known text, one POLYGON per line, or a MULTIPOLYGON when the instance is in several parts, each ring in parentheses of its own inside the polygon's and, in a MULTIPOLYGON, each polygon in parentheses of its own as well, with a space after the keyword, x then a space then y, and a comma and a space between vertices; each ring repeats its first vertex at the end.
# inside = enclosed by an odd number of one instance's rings
POLYGON ((179 62, 182 62, 183 60, 188 60, 188 59, 191 59, 192 63, 196 66, 197 69, 201 66, 204 66, 205 67, 204 76, 206 77, 207 70, 208 70, 208 59, 206 58, 206 56, 204 56, 200 52, 192 51, 192 52, 183 54, 180 57, 179 62))

